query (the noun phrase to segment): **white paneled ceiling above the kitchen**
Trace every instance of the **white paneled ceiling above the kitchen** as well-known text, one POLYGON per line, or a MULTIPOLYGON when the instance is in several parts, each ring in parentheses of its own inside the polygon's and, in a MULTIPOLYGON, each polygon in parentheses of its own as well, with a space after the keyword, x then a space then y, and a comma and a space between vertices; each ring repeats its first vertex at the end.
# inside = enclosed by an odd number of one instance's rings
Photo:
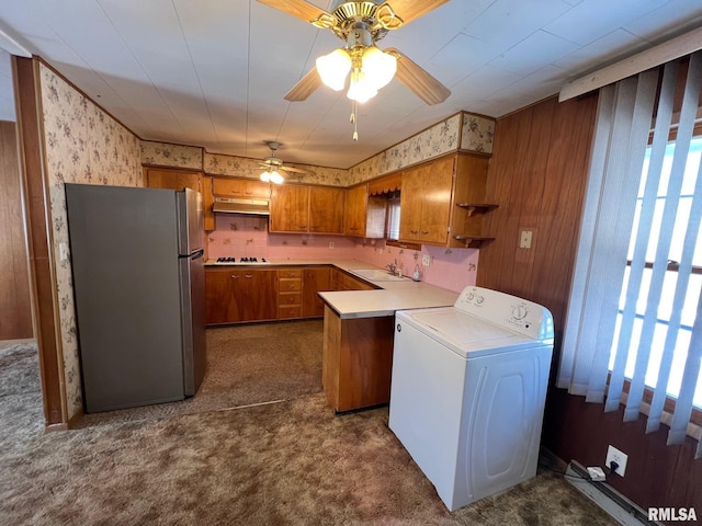
MULTIPOLYGON (((450 0, 380 47, 399 48, 452 95, 428 106, 395 80, 362 106, 354 142, 343 94, 322 87, 305 102, 283 100, 341 41, 256 0, 0 4, 1 32, 143 139, 252 158, 269 156, 265 141, 278 140, 285 161, 336 168, 461 110, 499 117, 701 25, 700 0, 450 0)), ((1 52, 0 119, 14 119, 11 87, 1 52)))

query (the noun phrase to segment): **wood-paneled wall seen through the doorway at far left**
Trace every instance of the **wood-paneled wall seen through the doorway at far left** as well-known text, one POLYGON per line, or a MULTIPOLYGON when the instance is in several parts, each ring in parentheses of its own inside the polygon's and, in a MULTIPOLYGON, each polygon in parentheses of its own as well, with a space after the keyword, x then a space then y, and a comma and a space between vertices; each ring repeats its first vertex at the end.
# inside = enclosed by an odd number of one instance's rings
POLYGON ((0 122, 0 341, 34 334, 15 128, 0 122))

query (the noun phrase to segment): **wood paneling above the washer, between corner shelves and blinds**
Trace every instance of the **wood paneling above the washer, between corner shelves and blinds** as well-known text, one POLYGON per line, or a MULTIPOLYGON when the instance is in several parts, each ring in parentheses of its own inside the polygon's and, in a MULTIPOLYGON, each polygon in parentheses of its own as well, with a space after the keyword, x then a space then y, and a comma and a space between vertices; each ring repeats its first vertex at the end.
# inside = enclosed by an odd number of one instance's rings
POLYGON ((488 169, 477 284, 547 307, 563 329, 587 180, 597 96, 548 99, 500 118, 488 169), (522 230, 532 248, 520 249, 522 230))

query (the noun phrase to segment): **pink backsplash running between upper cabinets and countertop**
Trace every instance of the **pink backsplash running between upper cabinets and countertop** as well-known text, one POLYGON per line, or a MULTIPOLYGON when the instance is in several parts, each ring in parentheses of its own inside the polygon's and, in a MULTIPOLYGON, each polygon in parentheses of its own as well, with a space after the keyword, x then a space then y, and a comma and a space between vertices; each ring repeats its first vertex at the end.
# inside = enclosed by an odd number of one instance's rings
POLYGON ((398 268, 408 276, 419 264, 422 282, 457 293, 468 285, 475 285, 478 263, 478 251, 475 249, 449 250, 422 245, 421 251, 414 251, 388 247, 384 240, 316 233, 271 233, 268 231, 268 217, 239 214, 216 215, 215 230, 207 236, 207 251, 210 259, 360 260, 380 267, 397 261, 398 268), (430 266, 421 264, 423 254, 431 258, 430 266))

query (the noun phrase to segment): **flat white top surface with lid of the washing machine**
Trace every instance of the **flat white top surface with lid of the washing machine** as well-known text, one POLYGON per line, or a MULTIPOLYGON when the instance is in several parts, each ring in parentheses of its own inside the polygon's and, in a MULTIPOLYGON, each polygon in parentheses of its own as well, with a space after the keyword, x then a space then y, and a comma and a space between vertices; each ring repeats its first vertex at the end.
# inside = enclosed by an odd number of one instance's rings
POLYGON ((543 345, 544 343, 508 331, 475 316, 466 315, 454 307, 406 310, 401 311, 400 318, 405 318, 429 336, 466 358, 543 345))

